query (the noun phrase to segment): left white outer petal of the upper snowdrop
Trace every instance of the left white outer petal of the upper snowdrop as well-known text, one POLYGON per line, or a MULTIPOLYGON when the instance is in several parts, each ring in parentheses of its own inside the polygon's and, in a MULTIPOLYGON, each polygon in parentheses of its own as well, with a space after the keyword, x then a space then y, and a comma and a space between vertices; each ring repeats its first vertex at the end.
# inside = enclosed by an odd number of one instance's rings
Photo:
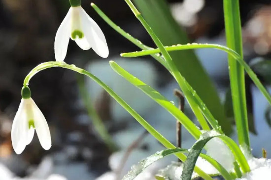
POLYGON ((71 8, 69 8, 68 13, 61 25, 59 26, 55 38, 55 58, 56 61, 64 61, 67 50, 68 50, 68 41, 71 31, 71 8))

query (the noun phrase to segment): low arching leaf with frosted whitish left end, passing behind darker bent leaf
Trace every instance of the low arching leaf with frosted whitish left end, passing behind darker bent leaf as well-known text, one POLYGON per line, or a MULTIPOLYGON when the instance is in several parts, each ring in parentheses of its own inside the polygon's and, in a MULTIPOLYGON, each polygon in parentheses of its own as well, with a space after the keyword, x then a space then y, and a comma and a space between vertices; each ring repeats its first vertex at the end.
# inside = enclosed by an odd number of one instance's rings
MULTIPOLYGON (((137 175, 139 175, 143 170, 145 170, 148 166, 153 164, 154 162, 158 161, 159 159, 162 159, 168 155, 175 154, 175 153, 188 153, 189 151, 187 149, 182 148, 175 148, 175 149, 166 149, 162 150, 160 152, 156 152, 155 154, 147 157, 146 159, 140 161, 136 165, 132 166, 132 170, 129 171, 122 180, 134 180, 137 175)), ((201 156, 203 159, 208 161, 211 165, 213 165, 218 172, 225 178, 225 180, 232 180, 231 175, 227 172, 227 170, 219 164, 217 161, 215 161, 210 156, 207 156, 206 154, 200 153, 199 156, 201 156)), ((198 157, 197 157, 198 158, 198 157)), ((194 169, 194 167, 193 167, 194 169)), ((193 172, 193 169, 191 172, 193 172)), ((191 175, 192 176, 192 175, 191 175)), ((160 179, 163 179, 162 177, 157 177, 160 179)), ((190 180, 190 179, 189 179, 190 180)))

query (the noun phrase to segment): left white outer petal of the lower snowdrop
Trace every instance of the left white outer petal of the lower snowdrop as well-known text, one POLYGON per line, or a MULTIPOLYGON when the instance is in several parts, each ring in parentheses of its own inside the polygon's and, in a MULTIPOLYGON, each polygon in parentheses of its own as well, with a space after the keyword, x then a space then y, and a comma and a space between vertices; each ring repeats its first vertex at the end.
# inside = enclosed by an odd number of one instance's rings
POLYGON ((25 113, 26 99, 22 99, 11 128, 11 142, 14 151, 21 154, 26 147, 27 120, 25 113))

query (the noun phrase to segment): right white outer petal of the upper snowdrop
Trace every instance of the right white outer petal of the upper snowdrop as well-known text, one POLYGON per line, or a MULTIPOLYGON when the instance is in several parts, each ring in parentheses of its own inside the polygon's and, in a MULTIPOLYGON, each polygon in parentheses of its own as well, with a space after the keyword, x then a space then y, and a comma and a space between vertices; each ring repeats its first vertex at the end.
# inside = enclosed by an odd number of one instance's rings
POLYGON ((87 41, 99 56, 107 58, 109 50, 101 28, 82 7, 80 7, 80 15, 83 33, 87 41))

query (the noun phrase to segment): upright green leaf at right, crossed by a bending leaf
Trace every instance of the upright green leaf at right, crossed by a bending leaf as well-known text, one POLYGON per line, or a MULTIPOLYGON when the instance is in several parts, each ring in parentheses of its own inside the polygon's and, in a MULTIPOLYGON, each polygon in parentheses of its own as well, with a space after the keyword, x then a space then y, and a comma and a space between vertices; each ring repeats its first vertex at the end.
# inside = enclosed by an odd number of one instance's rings
MULTIPOLYGON (((243 58, 239 0, 223 0, 227 46, 243 58)), ((233 108, 239 144, 251 153, 245 97, 244 69, 228 57, 233 108)))

